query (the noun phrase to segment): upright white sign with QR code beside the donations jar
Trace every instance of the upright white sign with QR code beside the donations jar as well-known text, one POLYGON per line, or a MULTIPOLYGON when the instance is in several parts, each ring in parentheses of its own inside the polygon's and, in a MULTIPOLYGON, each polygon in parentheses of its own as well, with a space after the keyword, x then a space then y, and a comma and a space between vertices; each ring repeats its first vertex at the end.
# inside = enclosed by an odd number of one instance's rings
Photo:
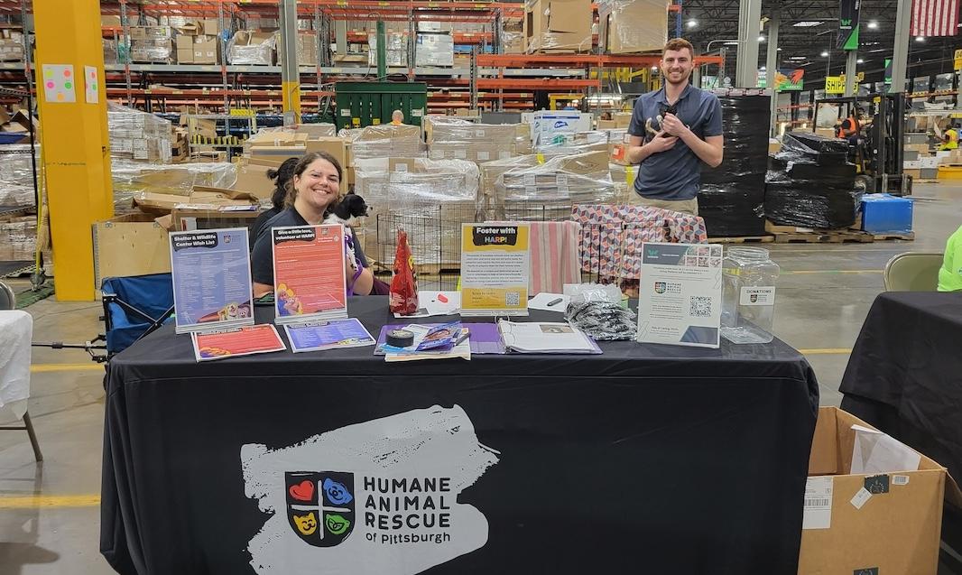
POLYGON ((722 246, 642 244, 638 341, 719 347, 722 246))

